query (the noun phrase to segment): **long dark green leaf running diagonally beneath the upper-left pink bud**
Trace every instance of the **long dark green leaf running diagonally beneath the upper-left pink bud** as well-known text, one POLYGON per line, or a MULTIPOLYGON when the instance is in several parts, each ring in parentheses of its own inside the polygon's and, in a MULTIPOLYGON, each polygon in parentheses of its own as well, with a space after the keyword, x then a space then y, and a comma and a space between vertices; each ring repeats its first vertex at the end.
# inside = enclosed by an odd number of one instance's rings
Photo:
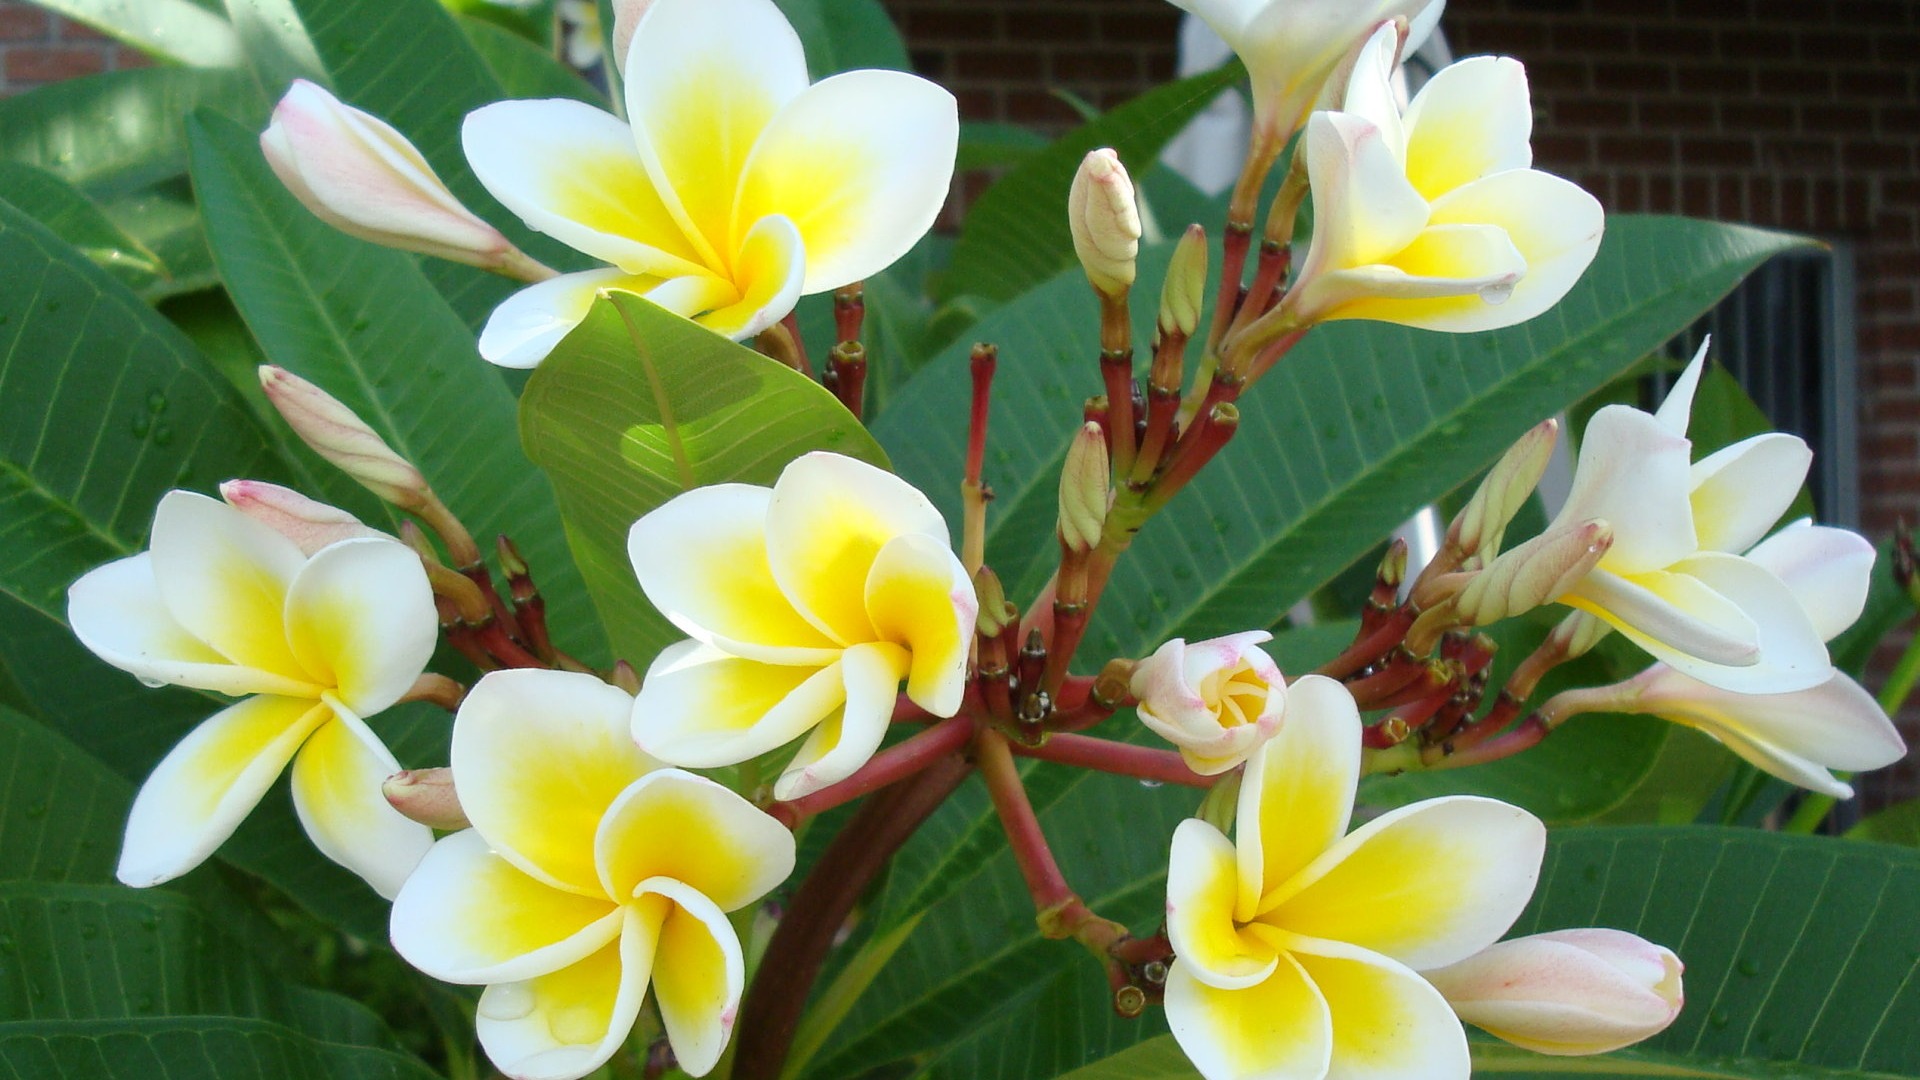
POLYGON ((545 479, 515 448, 515 404, 420 267, 300 208, 253 133, 196 117, 194 184, 207 238, 261 350, 334 394, 486 544, 509 534, 534 567, 557 644, 605 650, 545 479))

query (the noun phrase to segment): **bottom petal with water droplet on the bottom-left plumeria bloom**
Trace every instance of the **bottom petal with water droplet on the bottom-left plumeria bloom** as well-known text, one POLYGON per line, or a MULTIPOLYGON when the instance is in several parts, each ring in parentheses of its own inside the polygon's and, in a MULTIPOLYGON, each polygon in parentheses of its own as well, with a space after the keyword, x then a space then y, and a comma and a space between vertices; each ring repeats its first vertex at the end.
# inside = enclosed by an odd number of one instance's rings
POLYGON ((515 1080, 578 1080, 605 1065, 639 1017, 664 907, 628 905, 616 942, 551 974, 488 986, 474 1034, 493 1065, 515 1080))

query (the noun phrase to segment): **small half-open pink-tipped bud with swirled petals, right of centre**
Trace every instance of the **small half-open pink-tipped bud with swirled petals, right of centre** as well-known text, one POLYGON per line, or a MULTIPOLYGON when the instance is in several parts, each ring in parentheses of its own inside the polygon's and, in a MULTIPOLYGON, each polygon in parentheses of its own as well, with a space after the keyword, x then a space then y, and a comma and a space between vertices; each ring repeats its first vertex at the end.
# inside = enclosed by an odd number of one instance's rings
POLYGON ((1173 638, 1133 667, 1140 723, 1179 748, 1187 767, 1215 776, 1281 730, 1286 678, 1260 650, 1265 630, 1185 642, 1173 638))

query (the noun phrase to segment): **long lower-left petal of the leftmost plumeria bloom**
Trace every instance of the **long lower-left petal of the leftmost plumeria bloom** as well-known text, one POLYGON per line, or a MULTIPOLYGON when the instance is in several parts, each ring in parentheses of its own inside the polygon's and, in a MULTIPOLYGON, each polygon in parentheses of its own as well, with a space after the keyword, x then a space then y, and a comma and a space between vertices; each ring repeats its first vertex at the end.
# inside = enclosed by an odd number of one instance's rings
POLYGON ((330 717, 319 701, 265 694, 207 717, 140 784, 127 813, 119 880, 157 886, 205 861, 330 717))

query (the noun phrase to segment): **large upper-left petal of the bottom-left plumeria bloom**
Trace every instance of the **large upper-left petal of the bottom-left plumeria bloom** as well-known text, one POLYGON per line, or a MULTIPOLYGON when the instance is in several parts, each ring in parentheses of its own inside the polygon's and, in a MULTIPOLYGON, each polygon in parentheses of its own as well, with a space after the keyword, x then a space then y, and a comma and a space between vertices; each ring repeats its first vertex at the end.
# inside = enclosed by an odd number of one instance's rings
POLYGON ((593 830, 659 763, 634 746, 634 700, 591 675, 480 678, 453 719, 453 786, 493 851, 555 888, 603 897, 593 830))

